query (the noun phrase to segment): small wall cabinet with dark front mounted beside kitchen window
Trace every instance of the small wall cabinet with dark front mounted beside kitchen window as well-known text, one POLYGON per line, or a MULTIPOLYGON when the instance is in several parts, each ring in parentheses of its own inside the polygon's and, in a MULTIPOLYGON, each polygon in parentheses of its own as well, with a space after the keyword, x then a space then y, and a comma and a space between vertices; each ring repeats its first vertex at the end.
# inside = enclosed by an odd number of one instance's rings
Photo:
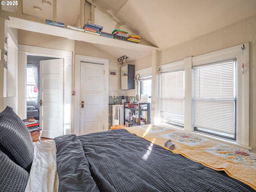
POLYGON ((121 89, 135 89, 135 65, 128 64, 121 67, 121 89))

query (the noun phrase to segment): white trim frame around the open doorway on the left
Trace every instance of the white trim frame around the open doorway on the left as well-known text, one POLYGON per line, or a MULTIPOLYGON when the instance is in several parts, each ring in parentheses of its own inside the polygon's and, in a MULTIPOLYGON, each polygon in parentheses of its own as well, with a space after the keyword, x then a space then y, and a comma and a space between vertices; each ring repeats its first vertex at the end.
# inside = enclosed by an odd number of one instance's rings
MULTIPOLYGON (((37 56, 46 59, 52 58, 61 58, 64 61, 62 66, 63 70, 63 102, 62 102, 62 125, 61 130, 62 134, 71 134, 72 133, 72 52, 64 51, 64 50, 56 50, 50 48, 42 48, 35 46, 26 46, 19 45, 18 46, 18 114, 20 118, 25 119, 27 110, 27 102, 26 102, 26 66, 27 59, 30 56, 37 56)), ((55 60, 55 59, 54 59, 55 60)), ((54 68, 54 67, 52 67, 54 68)), ((39 92, 39 94, 41 94, 39 92)), ((42 111, 39 111, 41 113, 42 111)), ((53 123, 50 123, 53 125, 53 123)), ((44 125, 40 125, 44 126, 44 125)), ((44 132, 44 128, 42 128, 42 134, 44 132)))

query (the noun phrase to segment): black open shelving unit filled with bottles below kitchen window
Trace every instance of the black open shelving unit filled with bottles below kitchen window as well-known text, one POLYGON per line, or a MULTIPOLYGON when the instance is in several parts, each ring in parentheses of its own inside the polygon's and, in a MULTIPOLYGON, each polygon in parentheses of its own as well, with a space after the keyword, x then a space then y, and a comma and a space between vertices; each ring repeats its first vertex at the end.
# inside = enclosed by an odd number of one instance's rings
POLYGON ((137 103, 132 104, 134 108, 129 108, 128 104, 130 102, 124 102, 124 124, 126 126, 138 126, 142 125, 141 120, 144 120, 145 124, 150 124, 150 103, 137 103), (136 120, 128 120, 129 112, 132 114, 138 113, 138 122, 136 120), (145 116, 142 115, 142 112, 145 112, 145 116))

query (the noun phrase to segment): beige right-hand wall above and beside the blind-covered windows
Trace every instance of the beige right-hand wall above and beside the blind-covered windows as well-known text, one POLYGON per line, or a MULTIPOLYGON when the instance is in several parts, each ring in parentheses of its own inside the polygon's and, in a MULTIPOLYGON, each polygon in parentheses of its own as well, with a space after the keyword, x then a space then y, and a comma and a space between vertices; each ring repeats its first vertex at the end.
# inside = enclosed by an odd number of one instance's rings
MULTIPOLYGON (((220 30, 199 36, 188 42, 162 50, 159 54, 159 65, 183 60, 190 56, 193 57, 214 52, 216 50, 247 42, 249 42, 250 48, 250 146, 254 148, 252 152, 256 152, 256 15, 230 26, 226 26, 220 30)), ((145 68, 150 67, 151 63, 148 62, 148 58, 137 60, 136 68, 140 68, 140 66, 145 66, 145 68), (146 63, 148 63, 148 65, 146 65, 146 63)))

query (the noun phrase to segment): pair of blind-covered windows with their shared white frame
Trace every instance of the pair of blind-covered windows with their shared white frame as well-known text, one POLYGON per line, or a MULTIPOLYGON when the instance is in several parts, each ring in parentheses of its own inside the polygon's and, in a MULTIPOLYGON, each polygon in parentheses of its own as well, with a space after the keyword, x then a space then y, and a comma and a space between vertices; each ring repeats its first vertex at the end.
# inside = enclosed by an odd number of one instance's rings
POLYGON ((162 65, 161 70, 157 119, 188 132, 251 149, 249 44, 184 58, 162 65), (181 68, 184 72, 178 70, 181 68), (180 82, 178 72, 184 78, 180 82))

